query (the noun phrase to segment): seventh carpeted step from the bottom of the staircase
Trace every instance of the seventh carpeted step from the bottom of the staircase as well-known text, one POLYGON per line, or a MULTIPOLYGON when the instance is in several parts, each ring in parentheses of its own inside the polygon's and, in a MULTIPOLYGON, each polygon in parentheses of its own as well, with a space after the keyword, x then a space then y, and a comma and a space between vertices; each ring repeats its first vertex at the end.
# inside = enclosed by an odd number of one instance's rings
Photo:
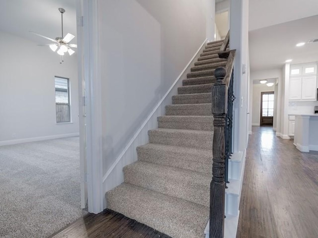
POLYGON ((212 103, 212 93, 192 93, 172 96, 172 104, 212 103))

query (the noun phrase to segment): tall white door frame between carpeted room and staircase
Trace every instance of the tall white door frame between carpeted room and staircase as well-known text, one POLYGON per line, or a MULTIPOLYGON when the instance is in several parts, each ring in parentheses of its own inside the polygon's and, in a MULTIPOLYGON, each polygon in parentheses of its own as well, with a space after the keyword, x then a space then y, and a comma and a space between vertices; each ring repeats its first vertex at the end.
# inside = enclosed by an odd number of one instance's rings
POLYGON ((97 0, 77 0, 77 4, 83 13, 83 42, 79 46, 83 52, 83 64, 79 67, 82 67, 85 81, 87 203, 88 212, 97 214, 104 209, 98 8, 97 0))

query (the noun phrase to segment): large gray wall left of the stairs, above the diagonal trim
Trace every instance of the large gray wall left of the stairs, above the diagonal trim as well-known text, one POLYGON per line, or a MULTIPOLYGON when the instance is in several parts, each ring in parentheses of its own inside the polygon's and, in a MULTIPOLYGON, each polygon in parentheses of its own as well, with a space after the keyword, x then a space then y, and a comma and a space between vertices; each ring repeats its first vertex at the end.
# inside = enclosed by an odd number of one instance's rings
POLYGON ((204 42, 204 5, 203 0, 98 1, 103 173, 204 42))

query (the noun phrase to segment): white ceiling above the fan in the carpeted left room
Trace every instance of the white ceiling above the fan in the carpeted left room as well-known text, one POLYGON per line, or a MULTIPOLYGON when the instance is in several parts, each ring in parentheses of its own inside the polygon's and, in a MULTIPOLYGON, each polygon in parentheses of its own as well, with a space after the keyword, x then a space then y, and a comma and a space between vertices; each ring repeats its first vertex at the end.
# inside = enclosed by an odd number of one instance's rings
MULTIPOLYGON (((50 41, 31 34, 29 31, 55 39, 61 36, 61 13, 64 35, 76 36, 76 0, 0 0, 0 31, 27 38, 37 44, 50 41)), ((72 41, 76 43, 76 38, 72 41)))

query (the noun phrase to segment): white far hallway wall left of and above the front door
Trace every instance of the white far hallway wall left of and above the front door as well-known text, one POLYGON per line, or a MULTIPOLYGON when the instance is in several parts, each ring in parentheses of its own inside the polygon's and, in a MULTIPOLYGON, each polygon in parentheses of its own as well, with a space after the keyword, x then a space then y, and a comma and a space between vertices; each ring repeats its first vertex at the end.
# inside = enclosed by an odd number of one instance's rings
MULTIPOLYGON (((253 84, 253 102, 252 102, 252 125, 260 123, 260 95, 261 92, 274 92, 275 86, 268 87, 266 84, 253 84)), ((274 109, 275 111, 275 109, 274 109)), ((275 120, 275 118, 274 118, 275 120)))

